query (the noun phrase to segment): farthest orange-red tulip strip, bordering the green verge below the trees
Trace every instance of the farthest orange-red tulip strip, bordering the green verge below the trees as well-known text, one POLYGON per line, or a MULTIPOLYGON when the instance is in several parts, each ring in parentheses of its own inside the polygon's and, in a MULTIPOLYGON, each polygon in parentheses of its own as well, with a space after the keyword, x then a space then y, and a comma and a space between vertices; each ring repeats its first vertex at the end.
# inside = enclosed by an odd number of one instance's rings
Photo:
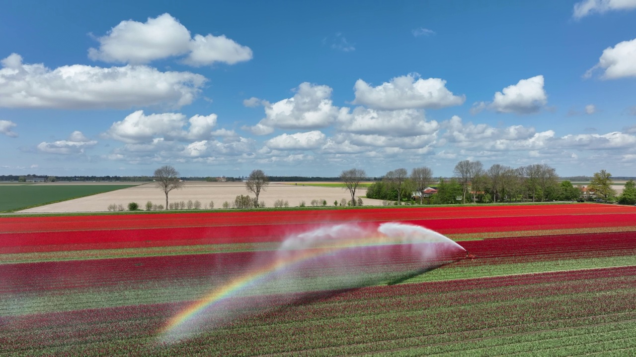
MULTIPOLYGON (((636 213, 636 208, 618 205, 517 205, 455 206, 431 208, 368 208, 349 210, 152 213, 143 215, 93 215, 66 217, 3 217, 1 232, 43 232, 149 227, 205 227, 245 224, 310 224, 317 222, 461 219, 546 215, 597 215, 636 213)), ((603 216, 598 216, 603 215, 603 216)))

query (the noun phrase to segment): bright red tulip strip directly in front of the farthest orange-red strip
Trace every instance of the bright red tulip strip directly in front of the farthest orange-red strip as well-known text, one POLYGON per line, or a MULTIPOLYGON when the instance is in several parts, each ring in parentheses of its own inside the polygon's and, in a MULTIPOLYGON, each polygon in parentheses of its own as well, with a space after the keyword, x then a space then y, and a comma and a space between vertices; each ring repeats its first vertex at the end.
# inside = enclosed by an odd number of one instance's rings
MULTIPOLYGON (((64 218, 64 217, 62 217, 64 218)), ((636 222, 636 214, 570 217, 503 217, 500 219, 410 220, 404 223, 424 226, 442 234, 477 231, 519 231, 522 229, 556 229, 555 227, 620 227, 636 222)), ((1 221, 1 219, 0 219, 1 221)), ((362 226, 377 227, 380 222, 362 226)), ((180 246, 282 241, 292 234, 320 227, 307 224, 266 224, 252 226, 214 226, 155 229, 117 229, 91 231, 52 231, 0 234, 0 253, 29 253, 59 250, 132 248, 135 246, 180 246), (73 248, 72 245, 76 245, 73 248)), ((611 233, 604 233, 611 234, 611 233)), ((630 234, 621 232, 620 234, 630 234)), ((534 247, 533 247, 534 248, 534 247)))

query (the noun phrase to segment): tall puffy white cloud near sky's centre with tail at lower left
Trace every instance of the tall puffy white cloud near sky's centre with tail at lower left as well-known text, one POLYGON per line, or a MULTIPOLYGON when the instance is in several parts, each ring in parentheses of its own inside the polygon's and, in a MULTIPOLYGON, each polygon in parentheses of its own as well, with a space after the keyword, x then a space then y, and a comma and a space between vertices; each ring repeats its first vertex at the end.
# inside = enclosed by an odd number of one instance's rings
POLYGON ((331 101, 331 88, 301 83, 292 98, 274 104, 263 101, 265 118, 254 126, 244 126, 256 135, 272 133, 275 128, 312 130, 325 128, 336 120, 340 109, 331 101))

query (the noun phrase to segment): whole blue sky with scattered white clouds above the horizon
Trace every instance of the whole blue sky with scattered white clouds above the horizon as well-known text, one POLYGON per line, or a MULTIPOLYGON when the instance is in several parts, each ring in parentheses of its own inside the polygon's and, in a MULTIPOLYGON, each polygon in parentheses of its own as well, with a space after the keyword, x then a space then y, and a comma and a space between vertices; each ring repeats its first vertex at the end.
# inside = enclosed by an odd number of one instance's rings
POLYGON ((3 174, 636 176, 636 0, 2 6, 3 174))

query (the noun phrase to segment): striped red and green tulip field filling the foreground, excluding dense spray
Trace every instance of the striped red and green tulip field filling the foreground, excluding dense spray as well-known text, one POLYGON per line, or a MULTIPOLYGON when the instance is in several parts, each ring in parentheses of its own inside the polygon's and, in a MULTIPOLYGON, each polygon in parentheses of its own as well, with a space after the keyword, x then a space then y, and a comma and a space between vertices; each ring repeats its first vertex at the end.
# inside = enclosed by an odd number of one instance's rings
POLYGON ((633 356, 635 297, 634 206, 0 217, 1 357, 633 356), (226 299, 231 318, 202 310, 196 334, 166 338, 219 286, 258 276, 287 237, 385 222, 432 229, 466 252, 342 289, 334 281, 349 274, 417 260, 392 245, 373 264, 307 260, 293 279, 226 299))

